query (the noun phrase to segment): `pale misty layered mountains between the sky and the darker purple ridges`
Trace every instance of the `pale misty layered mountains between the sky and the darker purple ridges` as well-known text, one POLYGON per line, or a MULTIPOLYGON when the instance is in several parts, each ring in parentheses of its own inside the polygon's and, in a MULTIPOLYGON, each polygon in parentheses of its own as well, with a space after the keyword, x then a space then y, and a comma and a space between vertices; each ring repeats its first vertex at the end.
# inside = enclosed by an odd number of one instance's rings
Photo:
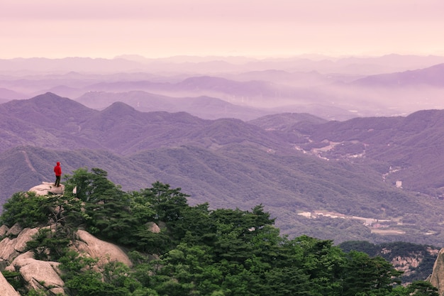
POLYGON ((52 92, 93 109, 186 111, 248 121, 277 113, 327 120, 443 109, 444 57, 245 57, 0 60, 0 103, 52 92))

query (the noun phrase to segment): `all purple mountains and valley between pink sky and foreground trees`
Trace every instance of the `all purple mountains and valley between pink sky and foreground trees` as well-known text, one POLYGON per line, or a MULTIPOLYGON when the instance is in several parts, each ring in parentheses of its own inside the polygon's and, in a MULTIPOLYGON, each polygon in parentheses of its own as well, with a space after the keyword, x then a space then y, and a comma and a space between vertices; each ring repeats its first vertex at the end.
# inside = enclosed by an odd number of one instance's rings
POLYGON ((0 77, 1 204, 52 182, 61 160, 66 175, 101 168, 130 192, 160 180, 192 205, 262 204, 290 237, 440 246, 440 59, 418 57, 411 71, 397 55, 353 60, 353 71, 350 61, 334 69, 296 60, 228 63, 220 72, 194 61, 181 72, 164 60, 118 72, 122 60, 101 60, 88 72, 81 58, 43 59, 52 72, 24 76, 33 60, 22 61, 22 72, 11 61, 0 77), (364 70, 369 62, 377 64, 372 72, 364 70), (100 70, 105 64, 112 70, 100 70), (316 219, 297 214, 320 209, 316 219))

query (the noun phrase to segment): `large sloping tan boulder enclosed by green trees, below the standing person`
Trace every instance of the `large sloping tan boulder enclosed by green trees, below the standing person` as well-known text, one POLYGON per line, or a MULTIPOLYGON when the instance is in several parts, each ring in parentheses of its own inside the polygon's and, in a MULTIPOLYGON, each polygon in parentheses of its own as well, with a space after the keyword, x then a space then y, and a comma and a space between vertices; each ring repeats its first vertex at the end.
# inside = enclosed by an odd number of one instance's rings
POLYGON ((79 253, 87 253, 92 258, 98 258, 99 265, 107 262, 118 261, 128 266, 132 266, 130 258, 121 248, 112 243, 101 241, 87 231, 77 231, 78 240, 74 241, 74 248, 79 253))

